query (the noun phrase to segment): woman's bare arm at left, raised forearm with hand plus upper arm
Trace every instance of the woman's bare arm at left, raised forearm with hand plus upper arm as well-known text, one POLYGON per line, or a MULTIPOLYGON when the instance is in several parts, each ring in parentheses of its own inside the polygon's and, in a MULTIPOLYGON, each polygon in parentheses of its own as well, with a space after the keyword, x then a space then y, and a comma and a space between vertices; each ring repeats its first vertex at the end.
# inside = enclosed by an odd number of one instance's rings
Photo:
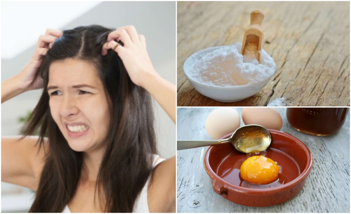
MULTIPOLYGON (((25 91, 42 87, 42 78, 35 74, 42 56, 61 35, 62 31, 48 29, 45 35, 39 36, 29 63, 18 74, 1 83, 1 103, 25 91)), ((1 137, 1 181, 37 189, 45 158, 45 149, 38 150, 37 141, 37 136, 1 137)))

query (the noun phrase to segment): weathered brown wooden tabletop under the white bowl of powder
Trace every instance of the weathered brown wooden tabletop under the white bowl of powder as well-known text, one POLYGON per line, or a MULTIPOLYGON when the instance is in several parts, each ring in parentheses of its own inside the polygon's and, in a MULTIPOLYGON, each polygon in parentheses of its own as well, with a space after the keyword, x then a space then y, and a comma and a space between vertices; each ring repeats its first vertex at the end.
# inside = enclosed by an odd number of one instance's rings
POLYGON ((350 105, 350 2, 177 2, 177 105, 350 105), (197 92, 184 61, 204 48, 243 40, 250 13, 265 14, 263 49, 276 73, 256 95, 220 103, 197 92))

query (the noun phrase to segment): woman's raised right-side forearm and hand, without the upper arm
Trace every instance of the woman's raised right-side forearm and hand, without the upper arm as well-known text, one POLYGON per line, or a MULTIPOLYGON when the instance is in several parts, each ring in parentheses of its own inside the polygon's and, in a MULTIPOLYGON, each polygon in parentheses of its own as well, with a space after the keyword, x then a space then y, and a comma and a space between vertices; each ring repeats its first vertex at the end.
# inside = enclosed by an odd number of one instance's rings
POLYGON ((147 90, 176 123, 176 86, 155 71, 146 51, 145 37, 138 35, 134 26, 127 26, 108 34, 107 41, 101 54, 105 56, 108 49, 117 52, 132 82, 147 90))

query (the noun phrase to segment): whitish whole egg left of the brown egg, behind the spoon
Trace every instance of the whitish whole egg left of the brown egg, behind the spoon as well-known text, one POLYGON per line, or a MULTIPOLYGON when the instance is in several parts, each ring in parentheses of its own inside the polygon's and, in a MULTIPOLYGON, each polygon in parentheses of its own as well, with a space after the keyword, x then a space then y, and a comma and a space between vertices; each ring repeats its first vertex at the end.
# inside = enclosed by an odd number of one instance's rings
POLYGON ((208 115, 206 130, 213 139, 219 139, 240 127, 240 116, 232 108, 218 108, 208 115))

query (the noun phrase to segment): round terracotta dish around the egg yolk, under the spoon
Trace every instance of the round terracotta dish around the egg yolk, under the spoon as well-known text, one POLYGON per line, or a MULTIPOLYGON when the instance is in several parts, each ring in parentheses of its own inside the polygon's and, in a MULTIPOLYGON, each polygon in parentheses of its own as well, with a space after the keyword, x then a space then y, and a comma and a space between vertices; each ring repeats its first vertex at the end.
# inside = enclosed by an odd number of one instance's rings
POLYGON ((234 203, 252 207, 276 205, 300 192, 312 169, 310 150, 296 137, 282 131, 269 131, 272 135, 271 145, 260 154, 240 153, 232 144, 215 145, 207 149, 204 165, 214 192, 234 203), (241 163, 254 155, 265 155, 277 162, 280 167, 277 181, 259 185, 241 178, 241 163))

